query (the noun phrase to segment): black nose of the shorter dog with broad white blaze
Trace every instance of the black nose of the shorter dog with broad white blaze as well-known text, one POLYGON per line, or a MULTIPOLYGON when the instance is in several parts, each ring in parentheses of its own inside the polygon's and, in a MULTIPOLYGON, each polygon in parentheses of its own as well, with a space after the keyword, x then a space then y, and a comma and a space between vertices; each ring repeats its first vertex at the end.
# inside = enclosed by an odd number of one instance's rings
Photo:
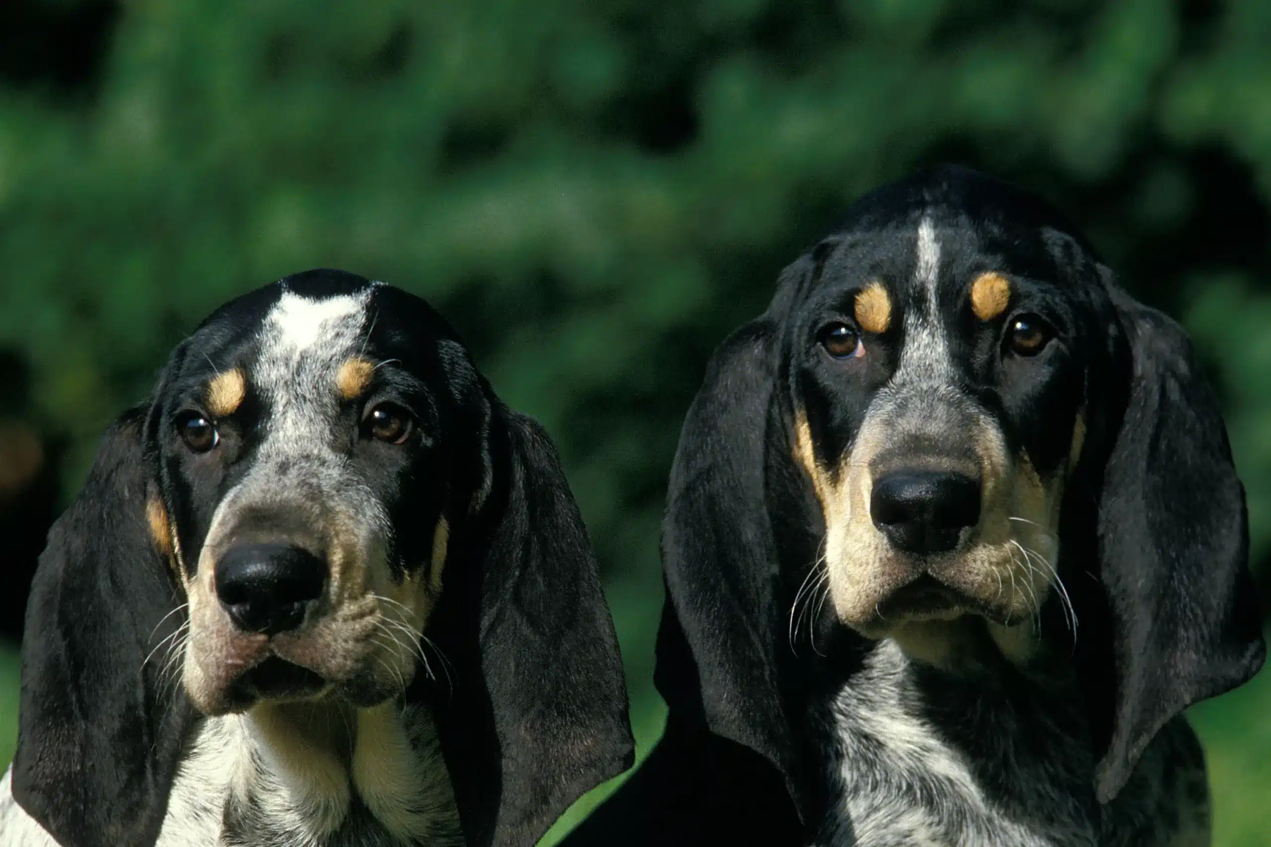
POLYGON ((216 563, 216 596, 245 632, 295 630, 325 581, 320 558, 287 544, 231 547, 216 563))

